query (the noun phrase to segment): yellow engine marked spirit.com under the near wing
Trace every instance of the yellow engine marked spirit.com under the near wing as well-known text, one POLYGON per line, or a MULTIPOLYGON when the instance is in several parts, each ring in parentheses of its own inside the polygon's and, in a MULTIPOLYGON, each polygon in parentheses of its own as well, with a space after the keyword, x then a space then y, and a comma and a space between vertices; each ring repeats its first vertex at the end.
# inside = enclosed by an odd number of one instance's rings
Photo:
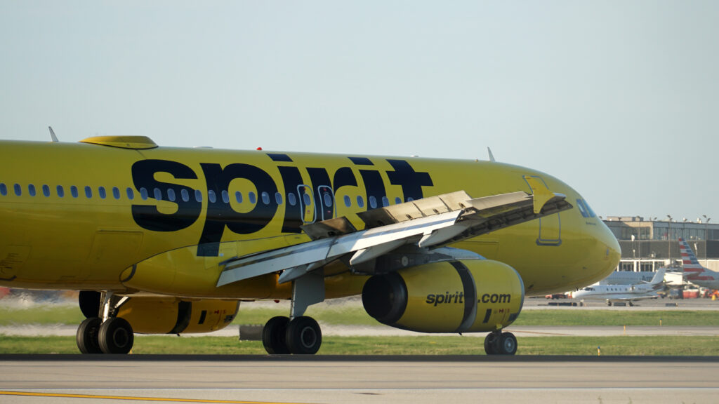
POLYGON ((362 303, 370 316, 398 329, 494 331, 519 315, 524 285, 517 271, 503 262, 435 262, 370 277, 362 303))

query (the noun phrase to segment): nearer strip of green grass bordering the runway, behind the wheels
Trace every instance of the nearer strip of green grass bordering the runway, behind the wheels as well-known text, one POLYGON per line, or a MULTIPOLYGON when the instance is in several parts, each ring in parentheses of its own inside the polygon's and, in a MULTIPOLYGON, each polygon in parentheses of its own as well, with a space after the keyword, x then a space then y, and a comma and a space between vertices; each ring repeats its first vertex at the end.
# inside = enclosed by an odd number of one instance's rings
MULTIPOLYGON (((319 354, 445 355, 484 354, 482 337, 325 337, 319 354)), ((715 336, 551 336, 518 338, 518 355, 719 355, 715 336)), ((77 354, 75 337, 0 337, 0 354, 77 354)), ((139 336, 133 354, 266 354, 259 341, 229 336, 139 336)))

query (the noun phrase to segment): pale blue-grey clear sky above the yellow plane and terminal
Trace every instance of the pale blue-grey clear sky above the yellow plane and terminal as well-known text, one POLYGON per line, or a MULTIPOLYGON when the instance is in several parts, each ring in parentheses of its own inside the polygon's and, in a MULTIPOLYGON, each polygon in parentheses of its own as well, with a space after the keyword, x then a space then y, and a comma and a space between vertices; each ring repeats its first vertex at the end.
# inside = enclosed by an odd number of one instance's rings
POLYGON ((0 0, 0 139, 487 159, 719 222, 718 1, 0 0))

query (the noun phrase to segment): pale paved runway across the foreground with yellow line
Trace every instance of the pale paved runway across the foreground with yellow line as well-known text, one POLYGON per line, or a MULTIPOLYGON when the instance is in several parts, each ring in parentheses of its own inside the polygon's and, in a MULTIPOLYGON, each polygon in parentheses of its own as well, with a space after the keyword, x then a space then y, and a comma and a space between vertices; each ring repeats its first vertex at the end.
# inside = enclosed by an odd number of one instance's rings
POLYGON ((4 355, 0 402, 715 403, 717 375, 718 357, 4 355))

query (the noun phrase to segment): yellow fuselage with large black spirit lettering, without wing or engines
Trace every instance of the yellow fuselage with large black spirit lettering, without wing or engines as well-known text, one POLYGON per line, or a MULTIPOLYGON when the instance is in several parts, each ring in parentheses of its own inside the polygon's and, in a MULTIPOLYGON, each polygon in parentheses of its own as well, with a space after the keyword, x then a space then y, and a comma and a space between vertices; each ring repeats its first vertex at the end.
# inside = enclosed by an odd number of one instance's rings
MULTIPOLYGON (((221 263, 306 242, 300 226, 311 221, 347 216, 361 229, 357 212, 383 203, 457 190, 531 193, 527 175, 574 208, 452 247, 514 267, 533 295, 593 283, 619 260, 618 243, 579 193, 524 167, 86 142, 0 142, 0 285, 289 298, 275 274, 217 288, 221 263)), ((364 277, 333 273, 328 298, 361 291, 364 277)))

